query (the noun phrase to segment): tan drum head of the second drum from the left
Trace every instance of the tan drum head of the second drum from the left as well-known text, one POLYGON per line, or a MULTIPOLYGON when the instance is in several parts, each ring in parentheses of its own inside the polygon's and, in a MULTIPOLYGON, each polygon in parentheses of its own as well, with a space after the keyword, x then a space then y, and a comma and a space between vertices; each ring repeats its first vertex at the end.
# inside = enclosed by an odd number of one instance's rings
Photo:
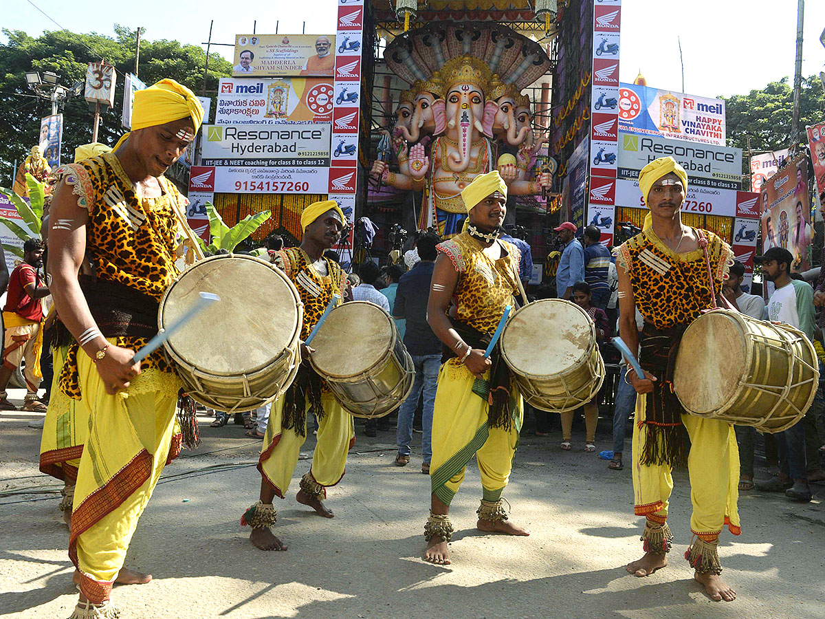
POLYGON ((359 376, 389 354, 395 325, 384 309, 367 301, 338 305, 312 341, 312 363, 330 378, 359 376))

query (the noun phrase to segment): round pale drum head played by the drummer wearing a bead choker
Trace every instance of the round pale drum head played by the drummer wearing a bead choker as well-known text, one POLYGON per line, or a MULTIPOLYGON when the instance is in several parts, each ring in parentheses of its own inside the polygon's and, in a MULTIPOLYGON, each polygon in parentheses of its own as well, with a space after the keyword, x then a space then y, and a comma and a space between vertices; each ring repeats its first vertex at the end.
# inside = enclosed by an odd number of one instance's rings
POLYGON ((568 371, 593 345, 592 321, 578 305, 545 299, 525 305, 507 322, 502 355, 517 374, 554 376, 568 371))

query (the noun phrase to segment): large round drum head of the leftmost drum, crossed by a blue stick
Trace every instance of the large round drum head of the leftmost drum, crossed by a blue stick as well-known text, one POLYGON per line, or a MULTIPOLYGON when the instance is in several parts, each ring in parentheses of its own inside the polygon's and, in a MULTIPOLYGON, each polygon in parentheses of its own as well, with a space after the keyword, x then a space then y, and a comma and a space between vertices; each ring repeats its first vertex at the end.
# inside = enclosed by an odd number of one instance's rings
POLYGON ((246 374, 266 366, 290 345, 300 328, 299 296, 286 276, 252 256, 214 256, 186 269, 160 306, 160 327, 173 324, 199 299, 219 295, 167 346, 198 370, 246 374))

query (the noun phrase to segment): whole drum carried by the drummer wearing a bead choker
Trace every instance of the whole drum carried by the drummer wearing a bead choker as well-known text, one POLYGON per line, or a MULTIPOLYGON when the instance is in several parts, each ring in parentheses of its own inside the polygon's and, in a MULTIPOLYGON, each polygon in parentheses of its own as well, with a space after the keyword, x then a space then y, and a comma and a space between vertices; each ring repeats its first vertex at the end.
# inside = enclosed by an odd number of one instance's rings
POLYGON ((501 350, 521 395, 536 409, 577 409, 596 397, 605 379, 596 325, 563 299, 518 309, 504 328, 501 350))

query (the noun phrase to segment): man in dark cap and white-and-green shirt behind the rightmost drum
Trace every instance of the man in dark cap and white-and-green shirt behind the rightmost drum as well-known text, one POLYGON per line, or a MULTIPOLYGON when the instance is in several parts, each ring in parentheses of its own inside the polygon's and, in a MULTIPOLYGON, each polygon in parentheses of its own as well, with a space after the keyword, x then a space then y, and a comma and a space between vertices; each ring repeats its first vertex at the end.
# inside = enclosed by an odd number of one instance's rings
MULTIPOLYGON (((787 249, 773 247, 762 254, 762 274, 776 288, 768 301, 768 319, 798 328, 813 342, 813 288, 805 281, 791 279, 790 266, 793 263, 794 257, 787 249)), ((796 423, 774 436, 779 448, 780 474, 776 480, 779 488, 785 487, 785 495, 789 499, 810 501, 812 495, 808 487, 803 423, 796 423)), ((768 482, 758 484, 757 488, 770 491, 777 489, 776 485, 768 482)))

